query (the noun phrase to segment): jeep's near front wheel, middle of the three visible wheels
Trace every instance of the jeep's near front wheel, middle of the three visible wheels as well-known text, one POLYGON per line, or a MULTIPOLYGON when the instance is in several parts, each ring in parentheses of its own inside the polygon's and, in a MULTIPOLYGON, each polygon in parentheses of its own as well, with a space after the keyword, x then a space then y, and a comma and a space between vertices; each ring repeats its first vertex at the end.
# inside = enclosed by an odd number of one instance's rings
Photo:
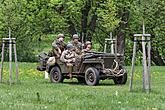
POLYGON ((85 81, 89 86, 95 86, 99 84, 99 71, 94 67, 88 68, 85 71, 85 81))

